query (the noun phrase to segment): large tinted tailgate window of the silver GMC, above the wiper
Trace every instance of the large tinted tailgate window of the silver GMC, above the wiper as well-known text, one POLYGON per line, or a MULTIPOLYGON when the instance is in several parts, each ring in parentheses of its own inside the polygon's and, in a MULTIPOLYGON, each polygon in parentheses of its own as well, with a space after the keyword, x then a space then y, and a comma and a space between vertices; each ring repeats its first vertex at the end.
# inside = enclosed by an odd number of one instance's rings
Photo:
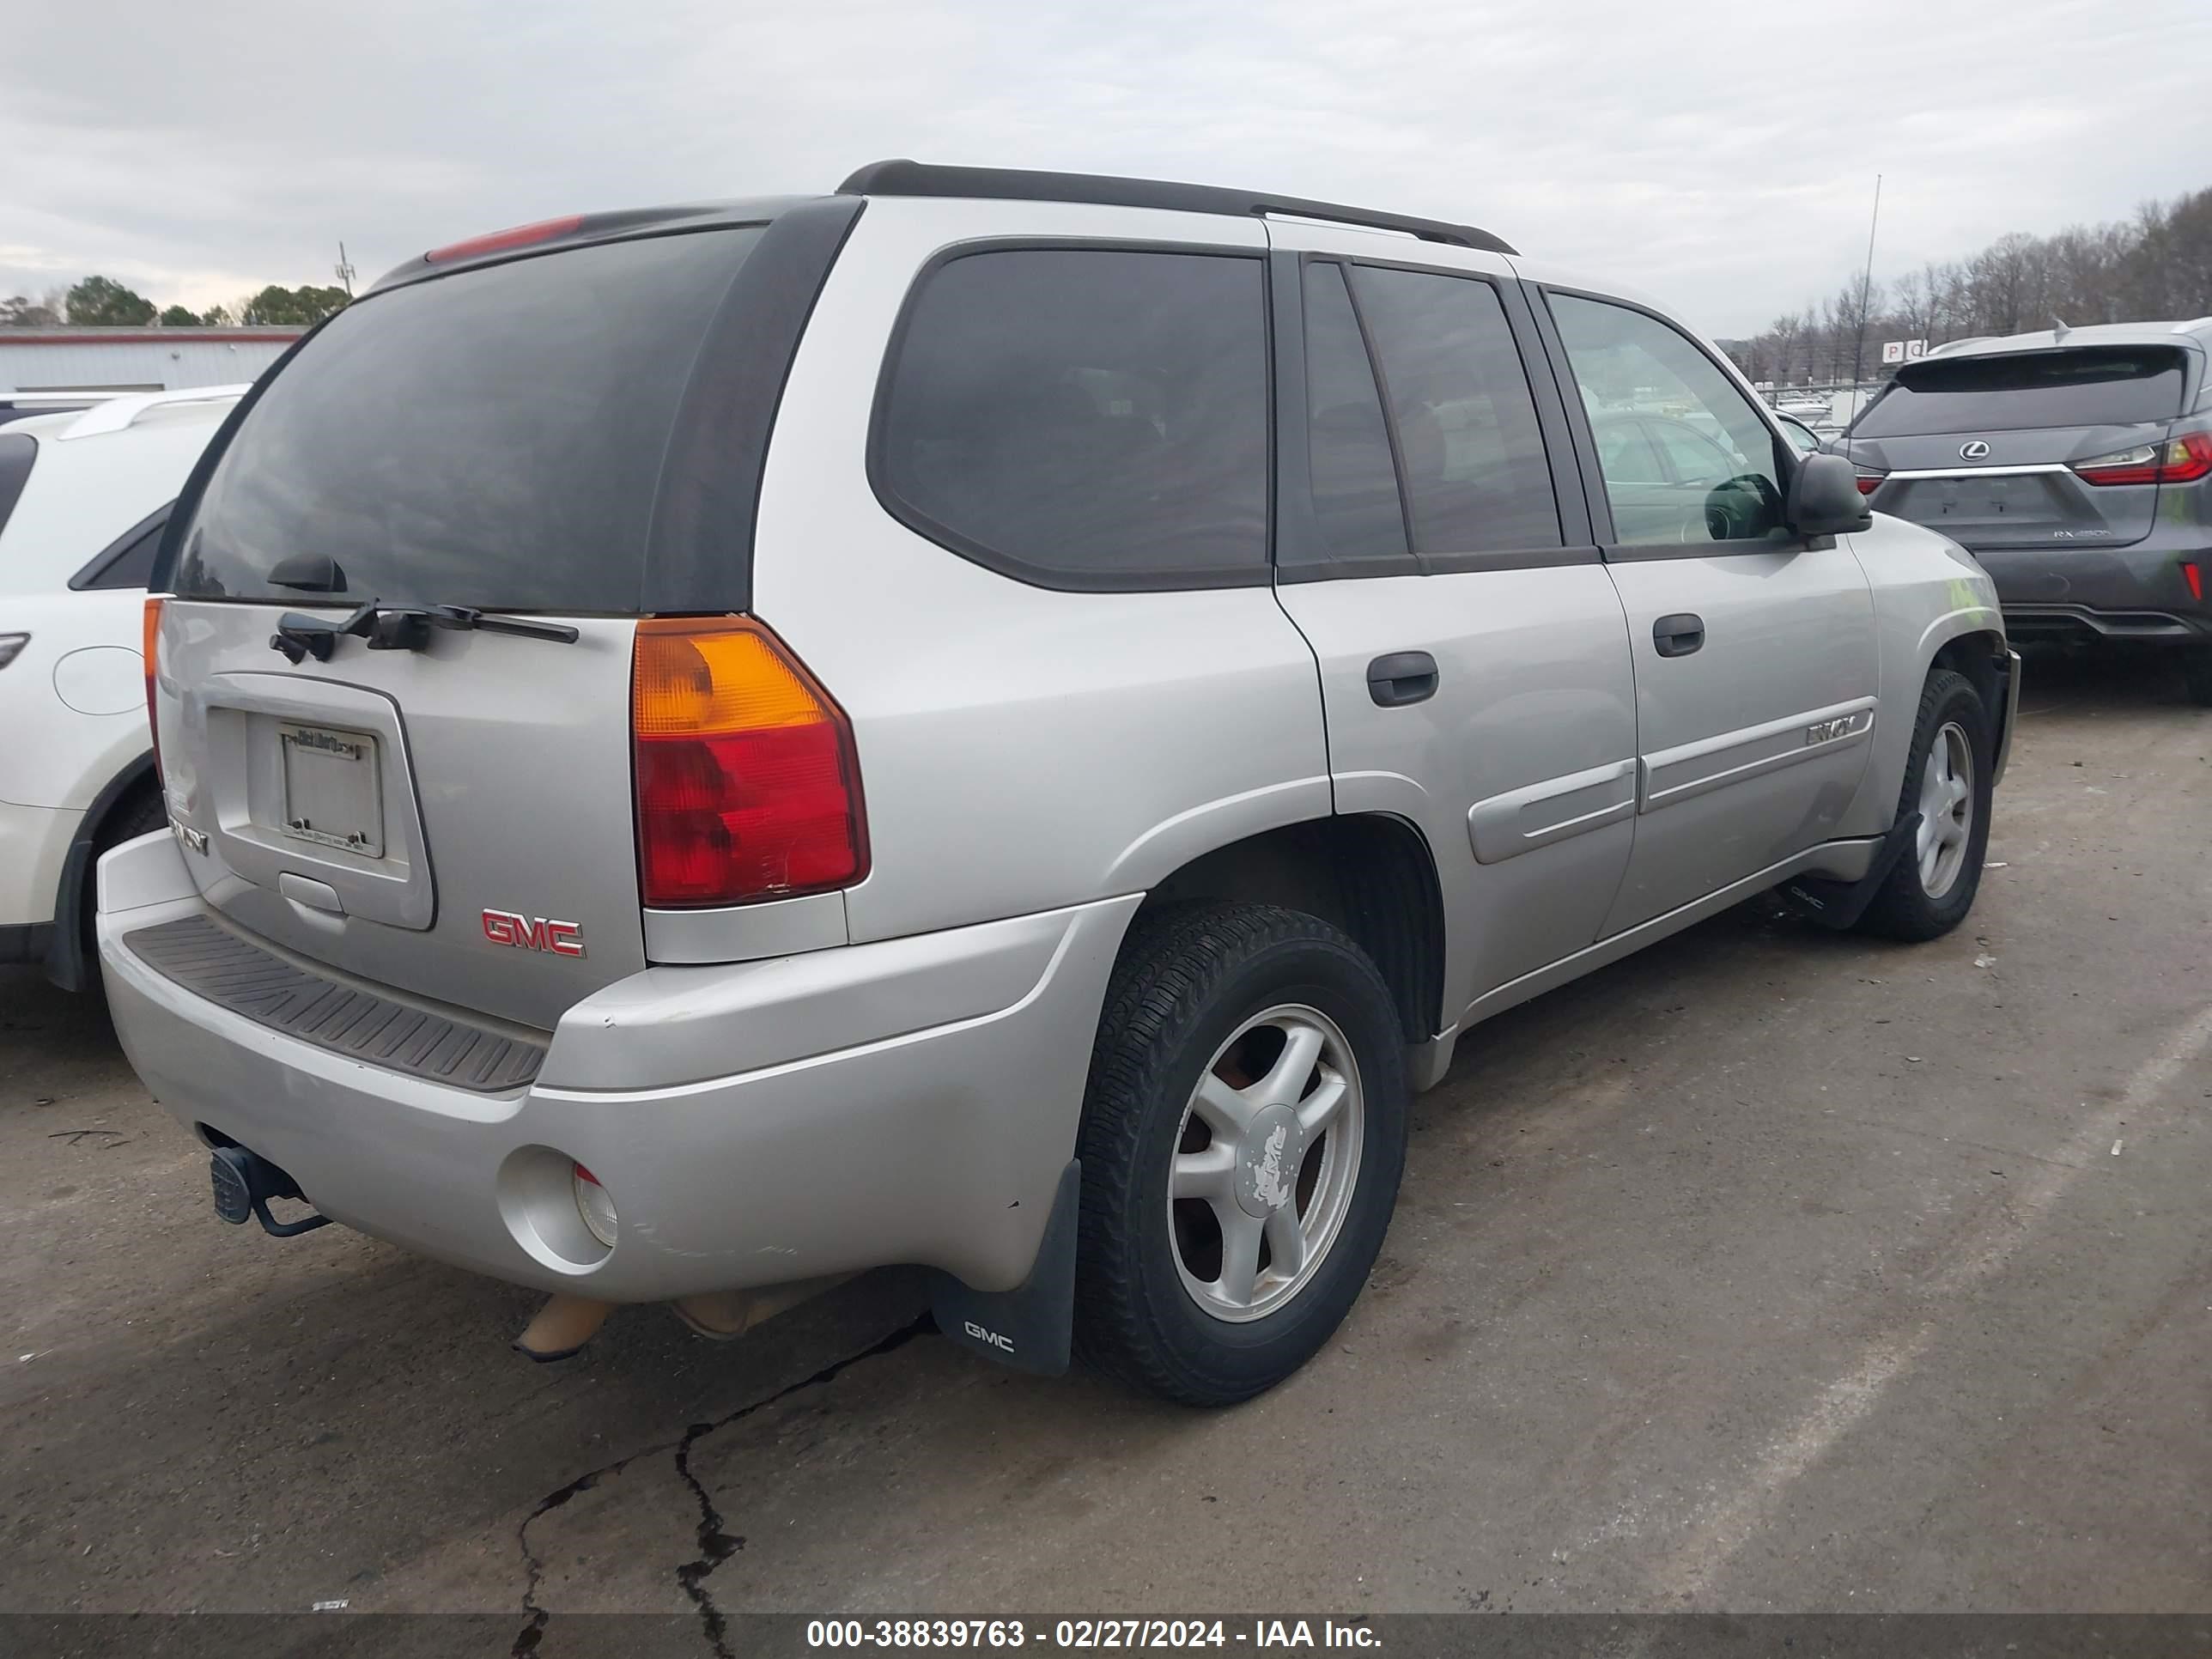
POLYGON ((195 599, 635 611, 661 453, 759 228, 573 248, 376 294, 248 414, 177 564, 195 599))

